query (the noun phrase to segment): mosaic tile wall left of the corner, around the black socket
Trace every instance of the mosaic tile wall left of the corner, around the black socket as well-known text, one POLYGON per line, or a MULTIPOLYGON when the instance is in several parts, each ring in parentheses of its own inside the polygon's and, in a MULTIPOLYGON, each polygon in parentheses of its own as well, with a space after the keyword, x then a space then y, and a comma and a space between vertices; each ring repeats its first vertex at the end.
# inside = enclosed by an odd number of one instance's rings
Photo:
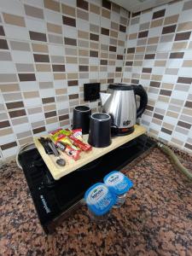
POLYGON ((0 0, 0 154, 71 124, 83 84, 120 82, 129 12, 107 1, 0 0))

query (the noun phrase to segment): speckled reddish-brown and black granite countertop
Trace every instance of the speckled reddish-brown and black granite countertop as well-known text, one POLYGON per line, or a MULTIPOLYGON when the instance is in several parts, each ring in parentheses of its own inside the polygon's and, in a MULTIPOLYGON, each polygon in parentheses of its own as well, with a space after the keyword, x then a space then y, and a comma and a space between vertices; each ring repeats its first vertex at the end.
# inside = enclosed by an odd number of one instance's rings
MULTIPOLYGON (((181 155, 192 170, 192 158, 181 155)), ((192 183, 160 152, 123 172, 134 182, 105 224, 79 208, 45 235, 15 162, 0 170, 0 255, 192 255, 192 183)))

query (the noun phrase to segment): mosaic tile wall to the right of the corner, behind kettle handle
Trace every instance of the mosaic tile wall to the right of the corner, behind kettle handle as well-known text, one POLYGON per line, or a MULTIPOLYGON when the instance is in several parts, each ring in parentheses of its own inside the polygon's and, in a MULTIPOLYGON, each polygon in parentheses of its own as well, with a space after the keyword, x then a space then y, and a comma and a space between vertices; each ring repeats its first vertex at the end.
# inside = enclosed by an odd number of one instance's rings
POLYGON ((123 81, 143 84, 148 132, 192 153, 192 1, 131 15, 123 81))

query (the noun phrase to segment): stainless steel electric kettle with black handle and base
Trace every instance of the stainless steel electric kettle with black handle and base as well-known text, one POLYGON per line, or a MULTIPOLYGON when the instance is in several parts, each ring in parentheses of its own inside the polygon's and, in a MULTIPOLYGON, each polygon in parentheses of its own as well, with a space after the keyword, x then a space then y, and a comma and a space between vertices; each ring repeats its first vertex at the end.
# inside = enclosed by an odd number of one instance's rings
POLYGON ((134 131, 136 119, 141 117, 148 96, 142 85, 109 84, 107 93, 100 93, 102 112, 112 118, 112 134, 125 135, 134 131), (140 96, 140 106, 137 108, 136 95, 140 96))

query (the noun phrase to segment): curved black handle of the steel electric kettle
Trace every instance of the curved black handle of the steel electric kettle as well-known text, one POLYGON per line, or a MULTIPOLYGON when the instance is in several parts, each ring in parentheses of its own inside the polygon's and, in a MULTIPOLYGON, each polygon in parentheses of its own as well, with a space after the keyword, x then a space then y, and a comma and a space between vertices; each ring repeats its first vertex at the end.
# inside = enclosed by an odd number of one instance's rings
POLYGON ((135 95, 140 96, 140 106, 137 109, 137 118, 138 118, 138 117, 141 117, 141 115, 145 111, 145 108, 147 107, 148 95, 141 84, 139 85, 131 84, 131 85, 133 86, 135 95))

